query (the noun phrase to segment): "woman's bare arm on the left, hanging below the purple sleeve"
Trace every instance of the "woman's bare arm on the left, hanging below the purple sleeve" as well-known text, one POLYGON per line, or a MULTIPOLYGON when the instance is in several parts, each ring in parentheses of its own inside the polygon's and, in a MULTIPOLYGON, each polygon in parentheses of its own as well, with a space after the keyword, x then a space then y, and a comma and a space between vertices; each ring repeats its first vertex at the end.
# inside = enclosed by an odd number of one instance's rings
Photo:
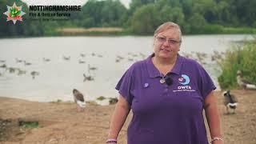
POLYGON ((118 138, 118 134, 122 129, 124 122, 126 122, 127 115, 130 112, 130 105, 122 95, 118 98, 118 103, 115 106, 114 114, 110 121, 110 131, 108 138, 118 138))

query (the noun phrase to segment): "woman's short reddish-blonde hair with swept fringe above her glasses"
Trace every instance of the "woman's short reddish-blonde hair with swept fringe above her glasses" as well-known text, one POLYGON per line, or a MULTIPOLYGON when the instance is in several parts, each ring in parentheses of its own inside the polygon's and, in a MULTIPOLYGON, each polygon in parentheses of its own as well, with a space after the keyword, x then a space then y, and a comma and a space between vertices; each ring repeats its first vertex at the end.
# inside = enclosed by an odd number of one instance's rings
POLYGON ((174 23, 174 22, 165 22, 163 23, 161 26, 158 26, 157 30, 154 31, 154 37, 159 34, 162 33, 165 30, 169 30, 169 29, 177 29, 178 33, 179 33, 179 40, 182 42, 182 30, 181 28, 178 26, 178 24, 174 23))

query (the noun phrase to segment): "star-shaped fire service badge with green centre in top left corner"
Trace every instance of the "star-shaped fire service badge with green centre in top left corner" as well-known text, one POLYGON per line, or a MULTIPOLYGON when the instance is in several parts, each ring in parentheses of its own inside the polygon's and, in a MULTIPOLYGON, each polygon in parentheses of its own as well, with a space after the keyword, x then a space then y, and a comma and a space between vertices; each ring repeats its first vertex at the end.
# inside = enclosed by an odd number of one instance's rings
POLYGON ((13 6, 7 6, 7 11, 3 14, 7 15, 6 22, 13 21, 15 24, 17 21, 22 21, 22 15, 26 13, 22 11, 22 6, 16 6, 16 3, 14 2, 13 6))

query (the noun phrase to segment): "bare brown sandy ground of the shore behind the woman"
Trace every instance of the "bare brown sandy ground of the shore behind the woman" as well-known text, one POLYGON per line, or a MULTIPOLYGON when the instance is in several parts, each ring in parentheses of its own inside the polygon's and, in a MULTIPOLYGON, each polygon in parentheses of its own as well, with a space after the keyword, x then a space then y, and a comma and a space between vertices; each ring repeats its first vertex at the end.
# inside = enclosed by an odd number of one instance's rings
MULTIPOLYGON (((231 90, 238 97, 235 114, 226 114, 222 104, 222 92, 215 91, 221 115, 225 143, 256 142, 256 91, 231 90)), ((74 102, 30 102, 18 98, 0 97, 0 118, 9 119, 10 129, 2 130, 0 143, 89 143, 105 142, 114 105, 99 106, 88 103, 78 113, 74 102), (38 127, 18 126, 18 120, 38 122, 38 127), (7 135, 5 135, 7 134, 7 135)), ((119 136, 118 143, 126 143, 126 129, 130 113, 119 136)), ((1 127, 1 126, 0 126, 1 127)), ((209 137, 209 130, 208 130, 209 137)))

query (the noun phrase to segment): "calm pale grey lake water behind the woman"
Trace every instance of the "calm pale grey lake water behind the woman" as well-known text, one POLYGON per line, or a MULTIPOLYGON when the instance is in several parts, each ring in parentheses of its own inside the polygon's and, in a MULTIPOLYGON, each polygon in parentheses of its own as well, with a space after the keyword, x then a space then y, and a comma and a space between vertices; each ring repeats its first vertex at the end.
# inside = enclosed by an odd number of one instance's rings
MULTIPOLYGON (((230 42, 244 38, 251 37, 242 34, 184 36, 181 52, 210 55, 214 50, 225 51, 230 42)), ((0 66, 6 64, 14 68, 14 72, 0 68, 0 96, 39 102, 69 101, 73 100, 73 88, 77 88, 86 95, 86 100, 99 96, 115 97, 118 92, 114 86, 118 79, 133 62, 151 54, 152 45, 152 37, 134 36, 0 39, 0 60, 6 61, 0 62, 0 66), (82 57, 82 54, 86 56, 82 57), (116 62, 118 56, 123 59, 116 62), (96 70, 89 70, 88 65, 96 70), (39 74, 32 78, 32 71, 39 74), (90 75, 94 81, 83 82, 83 74, 90 75)), ((218 66, 210 58, 203 66, 218 86, 218 66)))

